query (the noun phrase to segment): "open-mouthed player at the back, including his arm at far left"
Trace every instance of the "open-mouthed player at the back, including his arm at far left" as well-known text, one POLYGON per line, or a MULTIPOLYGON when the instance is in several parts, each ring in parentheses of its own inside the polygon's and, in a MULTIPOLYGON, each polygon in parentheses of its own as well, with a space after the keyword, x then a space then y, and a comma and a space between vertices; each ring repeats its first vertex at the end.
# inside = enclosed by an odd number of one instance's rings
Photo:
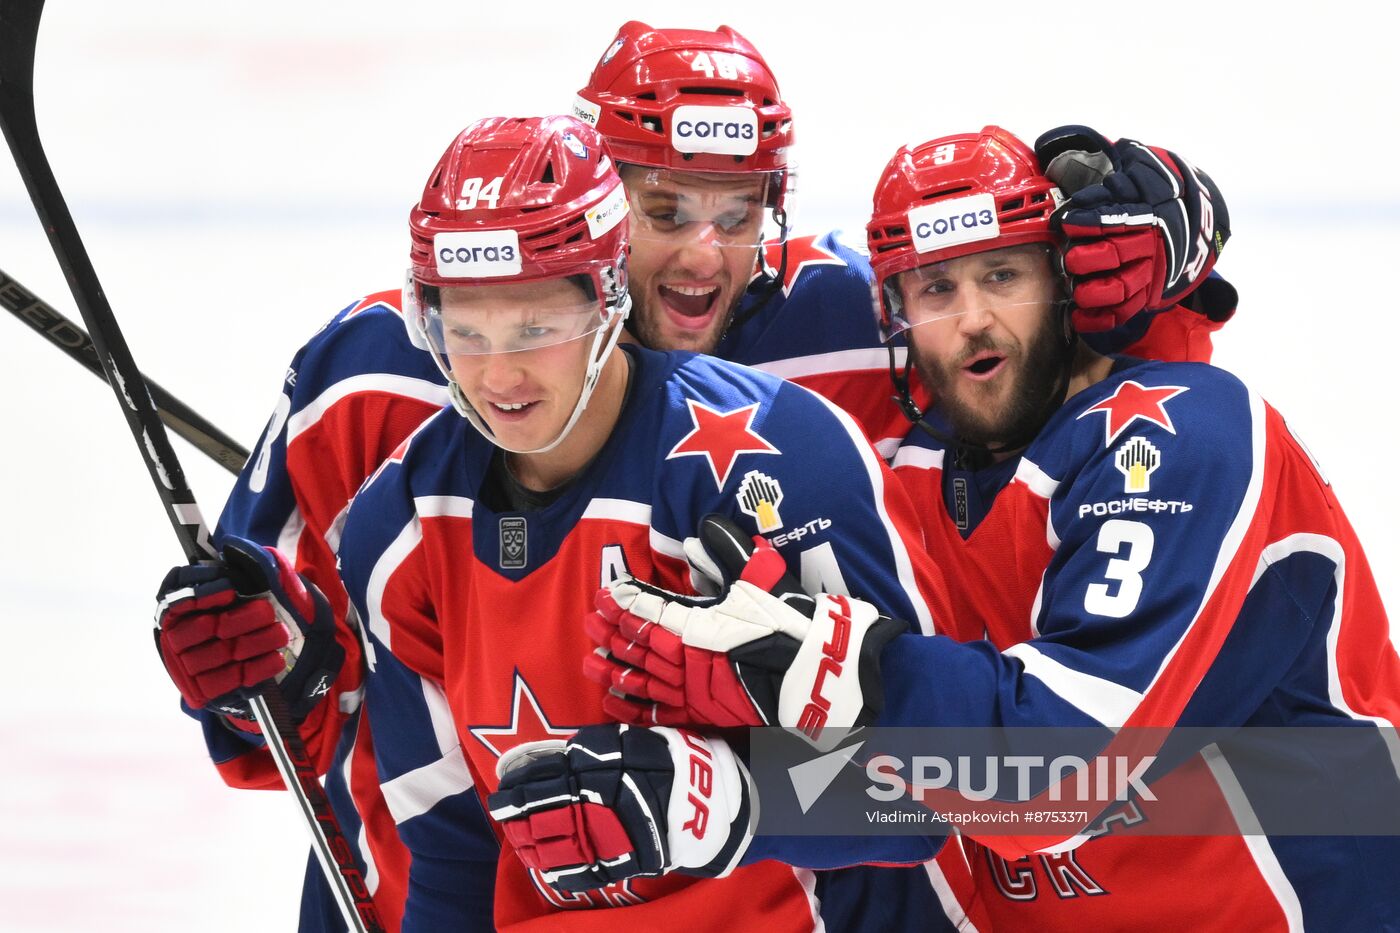
MULTIPOLYGON (((658 178, 669 172, 673 161, 718 165, 728 170, 725 177, 729 179, 752 174, 762 178, 755 186, 764 192, 767 220, 750 227, 785 227, 776 216, 788 199, 791 184, 785 144, 766 141, 749 157, 682 153, 672 147, 666 133, 650 132, 645 126, 648 120, 673 125, 686 112, 679 108, 717 105, 721 99, 717 95, 696 97, 683 90, 692 87, 690 77, 706 77, 703 63, 708 63, 722 87, 735 91, 736 95, 727 99, 725 106, 766 108, 766 113, 781 118, 777 123, 790 119, 762 56, 732 29, 650 29, 641 24, 624 25, 609 50, 612 55, 605 53, 605 60, 599 62, 588 85, 580 91, 578 108, 585 112, 598 108, 599 129, 610 137, 609 141, 626 148, 631 160, 629 164, 654 168, 658 178), (647 67, 623 73, 616 64, 619 60, 644 62, 647 67), (655 77, 650 83, 627 84, 629 76, 643 71, 655 77), (665 105, 648 104, 648 95, 664 99, 665 105), (645 119, 636 127, 617 118, 619 102, 624 101, 644 108, 637 112, 645 119)), ((790 125, 783 126, 778 141, 784 139, 791 141, 790 125)), ((1088 158, 1081 161, 1092 163, 1095 150, 1095 146, 1086 144, 1084 151, 1088 158)), ((636 179, 636 171, 624 171, 636 179)), ((1102 172, 1103 168, 1099 165, 1092 171, 1102 172)), ((644 181, 648 174, 643 172, 644 181)), ((493 193, 491 181, 482 179, 475 193, 487 205, 493 193)), ((643 191, 648 198, 634 199, 638 209, 654 209, 657 198, 664 200, 668 196, 657 186, 643 191)), ((679 198, 676 200, 680 203, 679 198)), ((703 199, 694 205, 700 210, 707 209, 703 199)), ((1151 210, 1152 205, 1144 205, 1144 209, 1151 210)), ((720 216, 710 219, 722 220, 720 216)), ((676 220, 671 219, 672 223, 676 220)), ((728 321, 715 352, 792 377, 839 401, 869 436, 883 437, 883 451, 892 452, 889 441, 897 441, 904 429, 900 427, 903 415, 889 402, 885 349, 874 324, 850 312, 851 307, 868 303, 871 273, 864 258, 826 235, 780 240, 763 249, 760 261, 760 251, 752 242, 743 247, 746 241, 741 238, 736 245, 734 235, 721 235, 718 226, 699 217, 692 220, 694 223, 678 224, 669 233, 655 233, 654 228, 665 226, 668 219, 652 210, 648 220, 652 235, 633 241, 630 261, 634 270, 643 275, 633 276, 634 311, 629 321, 659 321, 655 328, 636 328, 643 342, 655 349, 675 349, 683 343, 666 321, 675 314, 686 318, 687 307, 668 310, 665 300, 685 303, 696 296, 675 297, 680 293, 671 286, 676 284, 678 272, 687 276, 680 282, 683 290, 713 293, 715 280, 724 279, 720 273, 711 275, 715 265, 713 254, 724 258, 721 265, 727 270, 738 261, 738 280, 763 268, 767 272, 757 275, 736 294, 728 287, 736 279, 725 273, 729 279, 722 300, 707 298, 710 304, 699 317, 708 314, 710 324, 728 321), (685 233, 692 245, 675 249, 678 241, 686 242, 686 237, 678 237, 678 233, 685 233), (652 275, 647 269, 659 272, 652 275), (644 290, 643 286, 655 287, 644 290), (735 298, 736 307, 732 305, 735 298)), ((752 240, 752 230, 749 234, 752 240)), ((1100 259, 1092 273, 1095 280, 1109 286, 1105 291, 1109 297, 1100 298, 1109 301, 1100 318, 1117 319, 1130 307, 1123 298, 1131 289, 1123 286, 1119 297, 1110 294, 1113 283, 1123 279, 1130 266, 1141 272, 1142 268, 1152 268, 1152 262, 1137 258, 1117 269, 1100 259)), ((426 354, 409 345, 399 305, 399 290, 361 298, 337 314, 297 353, 262 443, 239 478, 216 534, 218 544, 244 538, 279 548, 293 560, 294 569, 325 594, 337 621, 344 619, 347 604, 335 573, 333 551, 339 520, 350 497, 413 427, 448 403, 441 374, 426 354)), ((1159 318, 1177 315, 1168 311, 1159 318)), ((1180 315, 1197 329, 1208 324, 1196 312, 1180 315)), ((718 339, 718 333, 711 329, 710 336, 718 339)), ((1119 331, 1110 331, 1110 335, 1119 339, 1119 331)), ((1183 349, 1168 346, 1165 352, 1183 349)), ((1200 347, 1196 352, 1201 352, 1200 347)), ((895 353, 903 361, 903 350, 896 347, 895 353)), ((368 720, 356 716, 361 699, 363 661, 353 628, 342 625, 336 640, 347 660, 329 693, 315 695, 321 698, 321 705, 309 709, 304 733, 328 770, 328 790, 337 814, 347 827, 349 838, 358 845, 381 911, 392 925, 406 897, 407 855, 399 845, 395 814, 385 804, 375 775, 368 720), (350 728, 343 728, 346 723, 350 728)), ((245 679, 251 685, 259 678, 245 679)), ((302 681, 309 685, 308 689, 321 684, 319 677, 293 678, 294 684, 302 681)), ((213 696, 185 693, 193 707, 203 706, 213 696)), ((206 740, 224 779, 234 786, 279 786, 272 762, 259 752, 260 737, 252 724, 237 714, 228 717, 217 712, 216 703, 209 705, 214 712, 204 717, 206 740)), ((402 789, 402 783, 399 786, 402 789)), ((321 929, 322 923, 333 929, 336 912, 318 894, 319 871, 314 864, 309 877, 312 884, 304 904, 302 929, 321 929)))

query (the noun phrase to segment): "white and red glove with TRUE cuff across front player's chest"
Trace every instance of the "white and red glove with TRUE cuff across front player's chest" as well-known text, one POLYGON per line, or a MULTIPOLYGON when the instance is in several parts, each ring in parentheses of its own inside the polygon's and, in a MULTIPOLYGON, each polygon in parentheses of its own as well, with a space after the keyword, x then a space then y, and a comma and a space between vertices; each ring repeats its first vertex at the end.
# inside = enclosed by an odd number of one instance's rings
POLYGON ((707 516, 686 541, 715 597, 638 580, 598 594, 585 629, 603 650, 584 672, 610 689, 609 716, 631 723, 785 726, 818 747, 879 714, 879 654, 903 622, 843 595, 808 595, 763 538, 707 516), (823 738, 823 733, 832 734, 823 738))

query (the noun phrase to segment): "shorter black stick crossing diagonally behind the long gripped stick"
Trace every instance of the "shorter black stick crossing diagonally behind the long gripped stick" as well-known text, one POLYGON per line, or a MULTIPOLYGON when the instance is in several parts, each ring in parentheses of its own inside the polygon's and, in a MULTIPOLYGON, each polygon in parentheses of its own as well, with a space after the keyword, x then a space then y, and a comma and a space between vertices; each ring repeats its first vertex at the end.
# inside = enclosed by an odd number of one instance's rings
MULTIPOLYGON (((97 347, 92 346, 92 338, 87 335, 87 331, 55 311, 4 269, 0 269, 0 305, 38 331, 49 343, 81 363, 88 373, 104 382, 106 381, 97 347)), ((155 402, 155 409, 161 420, 165 422, 165 427, 188 440, 228 472, 237 475, 244 468, 244 464, 248 462, 245 447, 155 382, 146 380, 146 388, 150 389, 151 401, 155 402)))

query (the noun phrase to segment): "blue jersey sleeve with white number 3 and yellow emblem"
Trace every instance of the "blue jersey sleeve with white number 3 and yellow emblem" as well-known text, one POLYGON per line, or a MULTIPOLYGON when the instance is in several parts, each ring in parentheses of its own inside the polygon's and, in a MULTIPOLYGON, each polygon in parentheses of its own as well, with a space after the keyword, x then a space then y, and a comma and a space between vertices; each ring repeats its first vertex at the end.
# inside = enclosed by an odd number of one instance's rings
MULTIPOLYGON (((1246 389, 1225 378, 1175 401, 1173 430, 1138 420, 1109 437, 1098 406, 1065 419, 1079 422, 1064 443, 1079 448, 1081 465, 1050 497, 1057 541, 1036 637, 1004 651, 897 639, 882 657, 879 724, 1177 724, 1253 583, 1247 553, 1271 506, 1261 497, 1261 403, 1252 410, 1246 389), (1147 489, 1126 492, 1124 465, 1137 454, 1155 465, 1147 489)), ((1245 698, 1218 710, 1224 721, 1246 719, 1245 698)))

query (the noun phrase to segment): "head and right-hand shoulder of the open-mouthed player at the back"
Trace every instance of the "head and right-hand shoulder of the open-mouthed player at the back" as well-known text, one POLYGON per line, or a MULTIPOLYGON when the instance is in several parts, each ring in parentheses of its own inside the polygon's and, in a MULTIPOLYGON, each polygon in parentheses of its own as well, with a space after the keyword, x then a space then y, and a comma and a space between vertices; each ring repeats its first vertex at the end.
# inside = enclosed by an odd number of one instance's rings
POLYGON ((627 22, 573 112, 608 140, 627 189, 629 331, 806 385, 892 451, 904 429, 885 349, 850 314, 869 300, 869 266, 836 233, 790 235, 792 113, 757 49, 729 27, 627 22))

